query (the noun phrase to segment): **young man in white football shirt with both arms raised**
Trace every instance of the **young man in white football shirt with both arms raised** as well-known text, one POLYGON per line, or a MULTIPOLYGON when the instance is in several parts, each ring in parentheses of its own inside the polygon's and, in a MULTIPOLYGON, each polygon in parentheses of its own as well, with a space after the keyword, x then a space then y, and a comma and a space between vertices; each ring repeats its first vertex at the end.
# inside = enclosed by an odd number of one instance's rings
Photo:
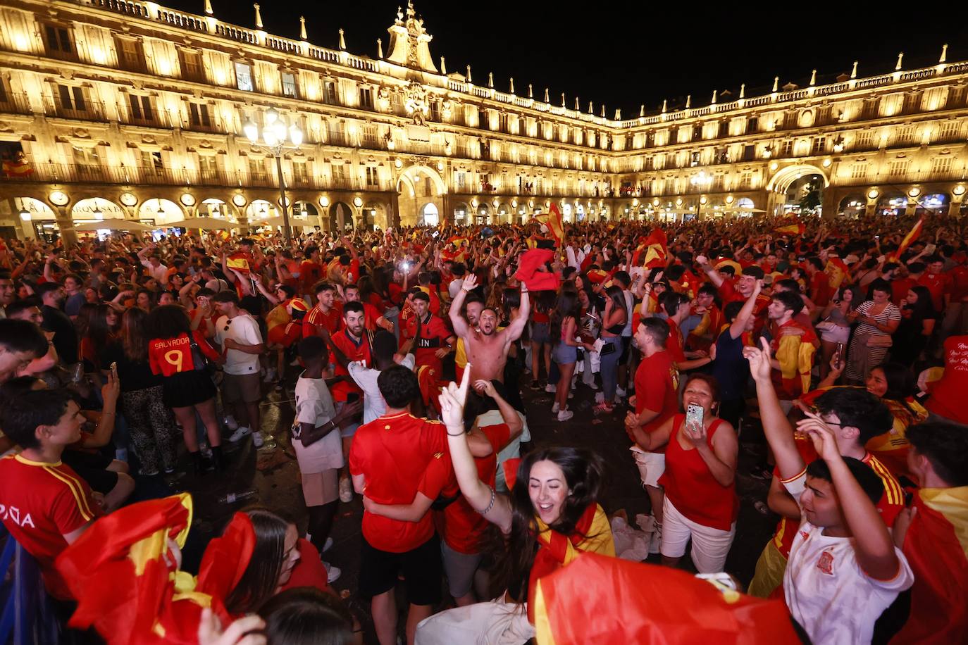
POLYGON ((783 576, 790 614, 815 643, 869 643, 881 613, 914 582, 875 507, 884 484, 862 461, 840 454, 834 414, 808 414, 798 424, 820 455, 805 465, 771 383, 769 343, 743 354, 781 482, 801 508, 783 576))

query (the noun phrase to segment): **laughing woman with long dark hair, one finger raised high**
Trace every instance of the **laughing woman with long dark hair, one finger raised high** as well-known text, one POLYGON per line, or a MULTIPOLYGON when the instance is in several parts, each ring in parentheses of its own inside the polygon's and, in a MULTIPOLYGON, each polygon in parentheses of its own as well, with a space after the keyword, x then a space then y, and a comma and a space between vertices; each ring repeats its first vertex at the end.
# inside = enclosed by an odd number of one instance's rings
POLYGON ((460 387, 451 383, 440 394, 441 417, 461 492, 471 508, 503 535, 503 555, 494 573, 506 592, 495 601, 424 620, 417 626, 421 645, 477 642, 496 628, 501 642, 525 643, 534 635, 531 601, 542 576, 582 552, 615 555, 608 519, 598 505, 604 465, 597 455, 574 448, 533 451, 521 459, 507 495, 480 481, 464 424, 469 372, 468 368, 460 387))

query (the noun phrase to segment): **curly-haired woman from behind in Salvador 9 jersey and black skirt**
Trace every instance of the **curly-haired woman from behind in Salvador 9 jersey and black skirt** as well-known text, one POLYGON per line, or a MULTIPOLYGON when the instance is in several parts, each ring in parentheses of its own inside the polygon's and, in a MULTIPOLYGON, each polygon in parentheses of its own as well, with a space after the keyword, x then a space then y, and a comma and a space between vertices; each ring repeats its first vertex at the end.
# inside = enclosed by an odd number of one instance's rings
POLYGON ((162 398, 182 426, 185 446, 196 472, 201 472, 198 452, 196 412, 205 425, 212 462, 221 470, 222 431, 215 414, 215 384, 205 368, 203 357, 222 362, 222 356, 208 344, 204 335, 192 331, 185 309, 178 305, 155 308, 146 319, 148 329, 148 362, 152 372, 162 377, 162 398))

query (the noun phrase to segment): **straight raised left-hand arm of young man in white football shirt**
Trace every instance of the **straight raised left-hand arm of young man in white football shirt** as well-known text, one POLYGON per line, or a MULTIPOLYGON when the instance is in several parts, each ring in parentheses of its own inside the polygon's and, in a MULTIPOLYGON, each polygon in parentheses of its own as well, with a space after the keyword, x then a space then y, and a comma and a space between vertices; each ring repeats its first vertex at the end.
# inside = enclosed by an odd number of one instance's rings
POLYGON ((773 456, 776 457, 780 476, 784 480, 790 480, 800 475, 806 464, 803 463, 803 457, 794 442, 793 427, 783 414, 780 401, 773 389, 770 342, 766 338, 760 338, 760 342, 762 349, 745 347, 742 354, 749 361, 749 370, 756 382, 756 397, 760 403, 763 432, 767 435, 773 456))

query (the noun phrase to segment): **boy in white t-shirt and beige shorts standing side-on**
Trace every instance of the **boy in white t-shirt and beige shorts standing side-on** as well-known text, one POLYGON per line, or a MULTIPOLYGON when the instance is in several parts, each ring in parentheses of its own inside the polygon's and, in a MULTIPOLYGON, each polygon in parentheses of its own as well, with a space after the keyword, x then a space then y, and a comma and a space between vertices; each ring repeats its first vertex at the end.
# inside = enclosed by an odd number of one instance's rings
MULTIPOLYGON (((305 371, 296 381, 296 414, 292 422, 292 448, 299 463, 303 497, 309 510, 307 533, 310 542, 322 553, 340 503, 339 471, 343 467, 340 424, 358 414, 362 403, 344 406, 339 413, 333 405, 323 369, 329 365, 326 342, 318 336, 303 338, 298 345, 299 360, 305 371)), ((326 565, 329 582, 340 570, 326 565)))

